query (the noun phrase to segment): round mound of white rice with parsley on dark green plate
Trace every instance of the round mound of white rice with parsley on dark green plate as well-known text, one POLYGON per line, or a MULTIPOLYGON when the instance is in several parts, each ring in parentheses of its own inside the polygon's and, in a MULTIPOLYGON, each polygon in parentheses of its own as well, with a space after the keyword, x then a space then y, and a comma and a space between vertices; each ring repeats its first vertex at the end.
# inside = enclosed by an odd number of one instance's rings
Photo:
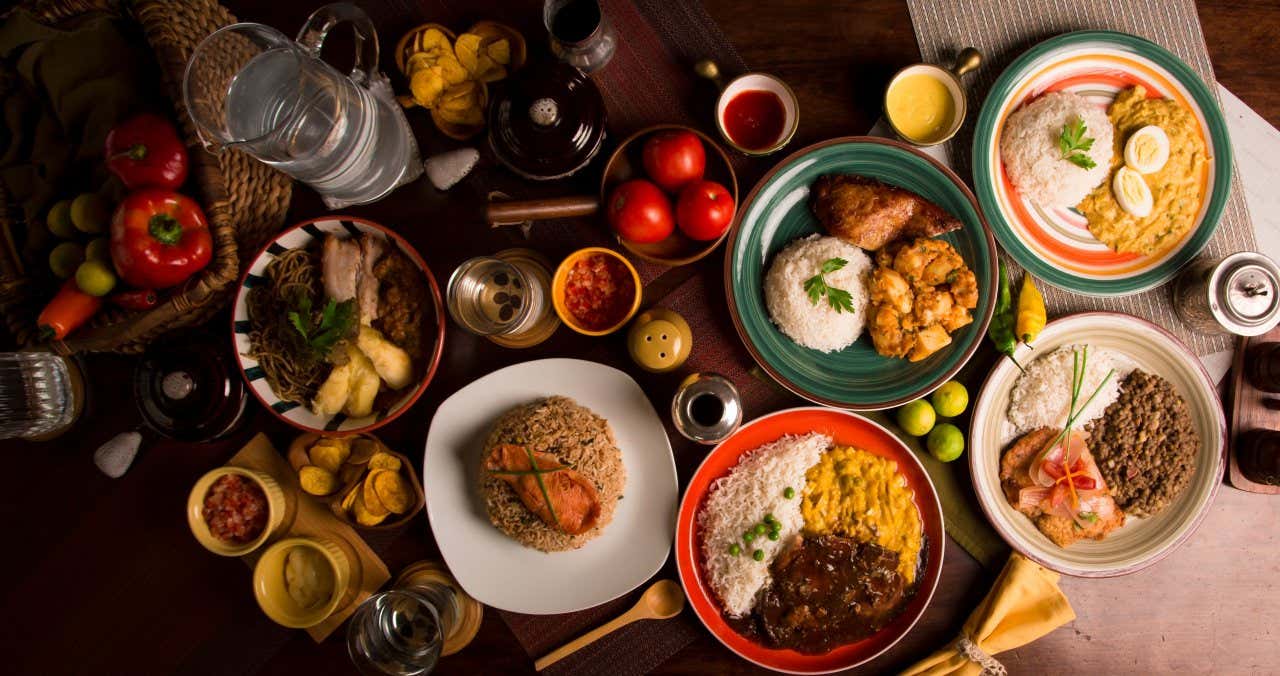
POLYGON ((764 305, 778 329, 800 346, 819 352, 844 350, 854 344, 867 324, 870 268, 870 256, 835 237, 813 234, 796 239, 773 257, 764 275, 764 305), (805 280, 820 273, 823 262, 837 257, 849 264, 827 273, 823 280, 852 296, 852 312, 837 312, 826 296, 814 303, 804 289, 805 280))

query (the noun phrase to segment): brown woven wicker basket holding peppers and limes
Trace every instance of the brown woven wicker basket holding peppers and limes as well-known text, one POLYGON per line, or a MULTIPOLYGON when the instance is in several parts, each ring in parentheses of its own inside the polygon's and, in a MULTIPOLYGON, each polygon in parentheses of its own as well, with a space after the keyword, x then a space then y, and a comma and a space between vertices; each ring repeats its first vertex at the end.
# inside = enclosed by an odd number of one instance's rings
MULTIPOLYGON (((279 172, 238 152, 211 155, 196 137, 182 102, 182 77, 192 50, 209 33, 236 23, 212 0, 27 0, 27 8, 50 26, 91 12, 110 12, 137 20, 155 54, 164 87, 173 101, 191 156, 193 179, 184 189, 205 209, 214 234, 214 260, 192 282, 147 311, 128 312, 104 306, 91 324, 51 347, 73 352, 141 352, 165 332, 209 320, 232 298, 239 261, 279 230, 289 206, 292 183, 279 172)), ((38 342, 36 316, 47 300, 23 273, 14 242, 20 230, 20 210, 0 188, 0 315, 22 346, 38 342)))

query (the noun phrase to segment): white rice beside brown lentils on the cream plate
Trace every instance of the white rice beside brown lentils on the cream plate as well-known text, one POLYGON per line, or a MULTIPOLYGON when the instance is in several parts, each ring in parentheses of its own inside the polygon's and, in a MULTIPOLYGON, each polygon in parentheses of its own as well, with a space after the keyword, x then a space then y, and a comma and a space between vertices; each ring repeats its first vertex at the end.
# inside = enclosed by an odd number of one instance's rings
MULTIPOLYGON (((1083 357, 1085 347, 1062 346, 1025 365, 1027 373, 1018 376, 1009 401, 1009 421, 1018 429, 1018 434, 1041 428, 1061 429, 1066 425, 1070 415, 1068 410, 1071 407, 1073 351, 1079 351, 1083 357)), ((1115 374, 1084 407, 1074 422, 1075 429, 1084 428, 1116 401, 1120 396, 1120 382, 1133 370, 1133 365, 1124 355, 1097 347, 1088 350, 1089 358, 1084 366, 1084 384, 1080 387, 1076 407, 1084 406, 1089 396, 1102 384, 1107 371, 1115 369, 1115 374)))

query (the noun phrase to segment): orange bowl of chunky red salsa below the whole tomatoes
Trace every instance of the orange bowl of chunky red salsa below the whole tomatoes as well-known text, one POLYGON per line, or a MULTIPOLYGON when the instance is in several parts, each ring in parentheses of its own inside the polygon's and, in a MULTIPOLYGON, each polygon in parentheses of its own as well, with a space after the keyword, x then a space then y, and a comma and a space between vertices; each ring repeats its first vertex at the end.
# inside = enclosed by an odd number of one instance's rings
POLYGON ((617 251, 580 248, 556 269, 552 305, 577 333, 613 333, 640 309, 640 273, 617 251))

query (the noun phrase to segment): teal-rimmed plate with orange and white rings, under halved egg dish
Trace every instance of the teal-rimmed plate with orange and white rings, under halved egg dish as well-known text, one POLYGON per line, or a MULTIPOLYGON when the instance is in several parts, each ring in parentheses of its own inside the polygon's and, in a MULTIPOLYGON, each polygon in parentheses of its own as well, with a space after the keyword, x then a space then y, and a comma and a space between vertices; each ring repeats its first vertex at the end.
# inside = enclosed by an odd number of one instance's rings
POLYGON ((1170 280, 1208 243, 1230 192, 1231 143, 1213 95, 1176 56, 1126 33, 1080 31, 1032 47, 996 79, 974 131, 973 175, 996 238, 1019 265, 1070 292, 1126 296, 1170 280), (1044 207, 1021 197, 1000 160, 1005 118, 1025 101, 1069 91, 1105 110, 1119 91, 1134 84, 1190 110, 1210 155, 1196 223, 1180 241, 1147 256, 1108 250, 1074 209, 1044 207))

